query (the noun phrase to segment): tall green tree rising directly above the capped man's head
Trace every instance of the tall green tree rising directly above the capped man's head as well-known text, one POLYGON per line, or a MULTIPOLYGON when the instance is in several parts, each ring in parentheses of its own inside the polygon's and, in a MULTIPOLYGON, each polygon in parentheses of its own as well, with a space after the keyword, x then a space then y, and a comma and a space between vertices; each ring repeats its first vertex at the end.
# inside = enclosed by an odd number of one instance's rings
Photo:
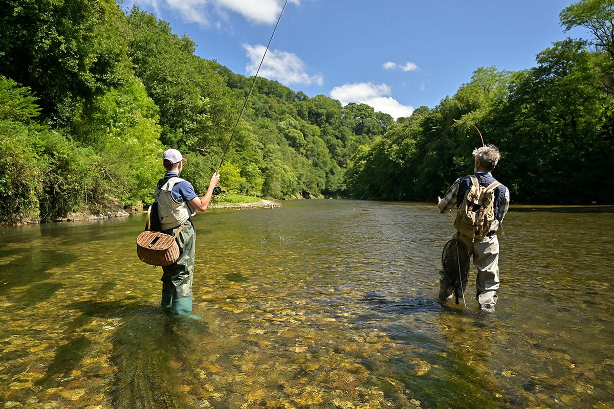
POLYGON ((198 58, 194 42, 171 32, 166 21, 134 7, 130 57, 147 94, 160 108, 161 142, 186 151, 220 153, 238 117, 217 64, 198 58), (216 149, 217 148, 217 149, 216 149))

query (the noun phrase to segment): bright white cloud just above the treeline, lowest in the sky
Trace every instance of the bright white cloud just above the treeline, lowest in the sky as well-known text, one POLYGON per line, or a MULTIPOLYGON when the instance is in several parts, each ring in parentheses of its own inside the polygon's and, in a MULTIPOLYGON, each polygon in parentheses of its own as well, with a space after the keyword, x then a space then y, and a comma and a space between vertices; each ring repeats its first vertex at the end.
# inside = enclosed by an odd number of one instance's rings
POLYGON ((387 113, 394 119, 409 117, 414 112, 414 107, 400 104, 390 96, 391 93, 391 88, 386 84, 362 82, 335 86, 330 91, 330 96, 338 99, 344 106, 350 102, 356 102, 367 104, 376 112, 387 113))

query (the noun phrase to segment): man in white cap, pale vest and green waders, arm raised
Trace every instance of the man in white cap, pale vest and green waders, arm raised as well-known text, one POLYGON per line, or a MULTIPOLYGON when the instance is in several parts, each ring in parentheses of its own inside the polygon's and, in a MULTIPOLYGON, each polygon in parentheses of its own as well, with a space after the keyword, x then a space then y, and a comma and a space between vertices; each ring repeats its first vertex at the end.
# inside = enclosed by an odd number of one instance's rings
POLYGON ((179 177, 183 162, 187 162, 181 152, 168 149, 162 155, 166 169, 164 178, 158 181, 155 201, 158 204, 161 231, 175 235, 181 227, 176 241, 179 245, 179 259, 169 266, 162 267, 162 307, 170 307, 174 314, 192 312, 192 280, 194 275, 194 247, 196 231, 192 216, 196 210, 207 210, 213 188, 220 182, 220 174, 215 172, 209 182, 207 193, 198 197, 192 184, 179 177))

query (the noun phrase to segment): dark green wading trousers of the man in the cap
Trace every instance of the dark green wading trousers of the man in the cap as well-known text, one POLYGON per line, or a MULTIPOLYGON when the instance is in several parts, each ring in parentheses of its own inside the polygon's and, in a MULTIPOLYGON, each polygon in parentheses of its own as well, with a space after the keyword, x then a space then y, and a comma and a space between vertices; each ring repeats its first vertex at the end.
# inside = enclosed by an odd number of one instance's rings
MULTIPOLYGON (((175 235, 179 226, 163 231, 175 235)), ((162 307, 171 307, 174 314, 192 312, 192 279, 194 277, 194 248, 196 231, 192 220, 185 222, 176 238, 179 259, 162 267, 162 307)))

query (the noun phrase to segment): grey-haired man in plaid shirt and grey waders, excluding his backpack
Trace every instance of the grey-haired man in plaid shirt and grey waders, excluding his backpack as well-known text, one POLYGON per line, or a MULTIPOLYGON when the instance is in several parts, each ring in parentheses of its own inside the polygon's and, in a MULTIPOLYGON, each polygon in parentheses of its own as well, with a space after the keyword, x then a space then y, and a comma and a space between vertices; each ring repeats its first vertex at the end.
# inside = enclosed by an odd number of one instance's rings
MULTIPOLYGON (((492 177, 492 170, 497 166, 500 159, 499 149, 494 145, 486 145, 473 151, 475 158, 474 175, 458 178, 448 189, 443 199, 438 197, 438 208, 441 213, 447 213, 454 207, 461 211, 462 202, 465 194, 472 187, 472 177, 475 177, 480 186, 486 187, 493 182, 497 182, 492 177)), ((495 184, 496 185, 496 184, 495 184)), ((485 312, 494 311, 497 304, 497 289, 499 289, 499 240, 497 230, 499 229, 505 213, 507 213, 510 203, 510 191, 499 184, 494 188, 494 220, 490 224, 483 237, 476 237, 475 234, 463 234, 457 231, 454 237, 462 240, 467 246, 469 254, 473 257, 473 265, 478 269, 476 277, 476 300, 480 304, 480 309, 485 312)), ((457 230, 458 220, 455 223, 457 230)), ((440 273, 439 298, 442 301, 453 297, 453 286, 448 277, 442 271, 440 273)))

